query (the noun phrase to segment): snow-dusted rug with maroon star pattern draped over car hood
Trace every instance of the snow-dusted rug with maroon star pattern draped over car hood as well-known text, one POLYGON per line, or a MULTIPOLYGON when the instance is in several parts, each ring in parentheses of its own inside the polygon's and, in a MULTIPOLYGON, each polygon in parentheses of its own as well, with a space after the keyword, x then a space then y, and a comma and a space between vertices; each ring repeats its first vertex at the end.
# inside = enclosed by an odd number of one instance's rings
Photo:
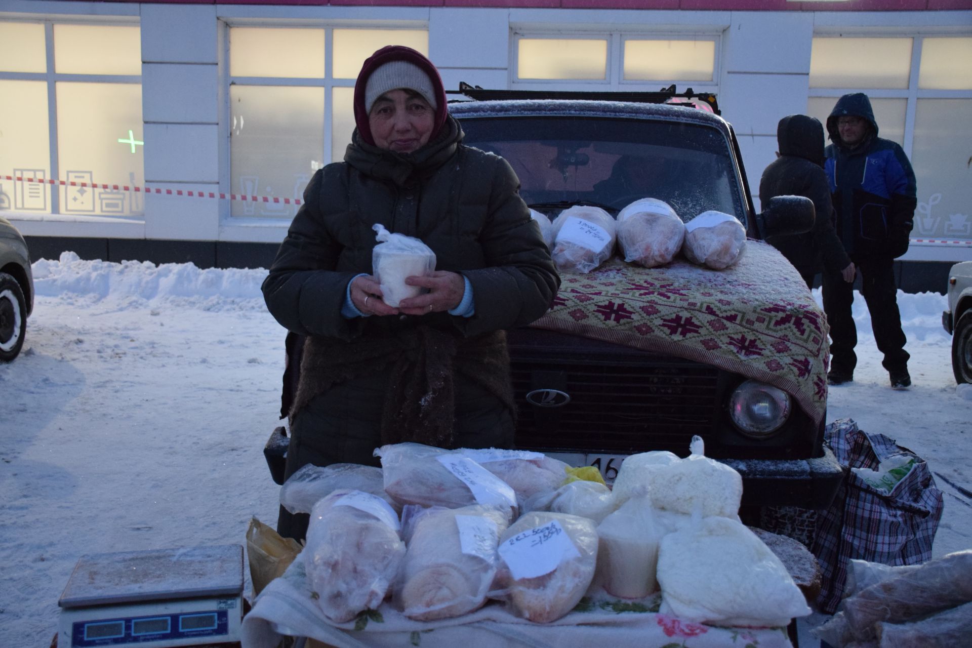
POLYGON ((815 423, 823 418, 826 320, 769 244, 747 240, 724 270, 681 257, 642 268, 614 256, 561 279, 553 306, 531 326, 712 364, 779 387, 815 423))

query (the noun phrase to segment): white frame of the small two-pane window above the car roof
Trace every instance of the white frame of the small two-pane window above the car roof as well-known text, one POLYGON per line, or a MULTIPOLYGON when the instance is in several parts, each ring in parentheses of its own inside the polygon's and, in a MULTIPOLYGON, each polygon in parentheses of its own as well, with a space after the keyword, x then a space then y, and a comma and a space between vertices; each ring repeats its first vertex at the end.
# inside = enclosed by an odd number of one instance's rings
POLYGON ((716 92, 719 85, 721 66, 721 35, 718 33, 698 32, 660 32, 660 31, 571 31, 549 32, 535 29, 512 30, 509 52, 509 86, 520 89, 549 89, 549 90, 597 90, 597 91, 654 91, 660 87, 675 84, 678 91, 691 87, 694 90, 704 88, 706 92, 716 92), (520 41, 530 40, 607 40, 608 61, 607 79, 520 79, 519 70, 520 41), (712 81, 685 81, 680 79, 634 80, 624 79, 624 44, 625 41, 711 41, 715 44, 715 55, 712 60, 712 81))

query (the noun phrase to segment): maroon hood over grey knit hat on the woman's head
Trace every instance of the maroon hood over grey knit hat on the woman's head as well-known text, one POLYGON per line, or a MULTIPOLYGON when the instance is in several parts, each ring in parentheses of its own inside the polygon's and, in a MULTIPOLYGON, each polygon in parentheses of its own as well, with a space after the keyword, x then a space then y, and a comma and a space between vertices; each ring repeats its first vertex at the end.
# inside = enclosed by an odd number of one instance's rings
POLYGON ((438 134, 447 112, 445 88, 438 70, 421 52, 392 45, 375 51, 364 61, 355 83, 355 124, 364 142, 374 144, 368 124, 371 106, 382 94, 399 87, 415 90, 429 102, 435 111, 432 138, 438 134))

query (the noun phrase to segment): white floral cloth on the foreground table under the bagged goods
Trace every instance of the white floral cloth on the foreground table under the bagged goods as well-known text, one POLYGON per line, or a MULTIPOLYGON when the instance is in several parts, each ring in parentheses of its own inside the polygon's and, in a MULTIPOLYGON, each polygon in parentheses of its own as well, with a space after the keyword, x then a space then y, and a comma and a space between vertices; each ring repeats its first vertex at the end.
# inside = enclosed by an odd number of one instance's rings
POLYGON ((243 648, 276 648, 283 635, 304 636, 336 648, 385 646, 488 646, 490 648, 792 648, 785 628, 723 628, 682 621, 657 612, 660 595, 639 600, 595 590, 567 616, 537 624, 510 614, 503 603, 452 619, 408 619, 386 600, 352 622, 333 624, 307 584, 303 555, 271 581, 243 619, 243 648))

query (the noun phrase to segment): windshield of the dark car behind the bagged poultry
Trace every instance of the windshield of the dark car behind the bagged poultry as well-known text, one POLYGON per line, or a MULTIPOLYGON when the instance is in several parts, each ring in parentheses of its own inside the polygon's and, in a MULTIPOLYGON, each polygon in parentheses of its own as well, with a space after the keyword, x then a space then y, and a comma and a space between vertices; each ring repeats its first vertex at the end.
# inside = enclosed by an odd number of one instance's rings
POLYGON ((497 153, 520 178, 528 205, 554 216, 572 204, 612 215, 658 198, 682 221, 725 212, 746 223, 729 143, 697 123, 590 117, 464 119, 465 144, 497 153))

